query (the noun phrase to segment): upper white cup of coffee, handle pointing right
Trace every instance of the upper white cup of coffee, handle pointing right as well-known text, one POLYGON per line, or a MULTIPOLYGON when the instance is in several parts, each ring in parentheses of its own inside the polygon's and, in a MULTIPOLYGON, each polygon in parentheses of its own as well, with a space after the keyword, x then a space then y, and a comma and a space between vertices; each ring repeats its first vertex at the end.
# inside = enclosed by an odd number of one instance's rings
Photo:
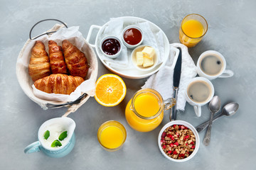
POLYGON ((206 79, 233 77, 234 72, 225 68, 225 58, 220 52, 213 50, 203 52, 196 64, 196 72, 199 76, 206 77, 206 79))

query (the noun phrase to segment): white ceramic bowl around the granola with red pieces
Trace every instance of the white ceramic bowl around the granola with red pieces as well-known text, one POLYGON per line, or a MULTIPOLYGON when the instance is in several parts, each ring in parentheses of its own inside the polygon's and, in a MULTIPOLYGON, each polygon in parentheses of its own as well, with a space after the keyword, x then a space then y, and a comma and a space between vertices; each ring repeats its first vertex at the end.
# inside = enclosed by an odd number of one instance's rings
POLYGON ((198 132, 196 131, 196 128, 194 128, 193 125, 191 125, 190 123, 187 123, 187 122, 185 122, 183 120, 174 120, 174 121, 171 121, 171 122, 167 123, 166 125, 164 125, 163 128, 161 128, 161 130, 159 132, 159 137, 158 137, 158 145, 159 145, 159 149, 160 149, 161 153, 167 159, 169 159, 169 160, 171 160, 173 162, 186 162, 189 159, 193 158, 196 155, 196 153, 198 152, 199 145, 200 145, 200 138, 199 138, 198 132), (174 159, 174 158, 169 157, 164 152, 164 150, 161 148, 161 135, 164 132, 164 130, 166 130, 166 128, 170 127, 171 125, 184 125, 188 129, 192 130, 193 134, 196 136, 196 147, 195 147, 194 151, 192 152, 192 154, 189 157, 186 157, 184 159, 174 159))

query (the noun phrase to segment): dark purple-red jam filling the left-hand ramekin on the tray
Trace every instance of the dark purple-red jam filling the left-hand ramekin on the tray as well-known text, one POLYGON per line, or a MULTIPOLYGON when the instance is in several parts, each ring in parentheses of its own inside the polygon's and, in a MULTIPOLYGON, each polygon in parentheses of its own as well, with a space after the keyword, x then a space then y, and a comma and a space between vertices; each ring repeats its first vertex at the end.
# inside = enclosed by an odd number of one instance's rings
POLYGON ((114 38, 108 38, 102 42, 102 51, 107 55, 115 55, 120 50, 120 42, 114 38))

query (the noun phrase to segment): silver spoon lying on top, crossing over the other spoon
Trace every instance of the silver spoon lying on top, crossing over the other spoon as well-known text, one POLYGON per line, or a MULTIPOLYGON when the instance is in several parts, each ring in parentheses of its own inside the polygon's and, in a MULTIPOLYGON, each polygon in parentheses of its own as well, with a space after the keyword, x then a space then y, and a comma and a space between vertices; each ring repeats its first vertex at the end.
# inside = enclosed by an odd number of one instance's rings
POLYGON ((209 110, 211 112, 210 114, 210 121, 209 121, 209 126, 208 126, 208 130, 206 131, 206 135, 203 138, 203 144, 208 146, 210 144, 210 130, 212 127, 212 123, 213 123, 213 115, 215 113, 217 113, 218 111, 220 111, 220 98, 218 96, 214 96, 213 99, 210 101, 209 103, 209 110))

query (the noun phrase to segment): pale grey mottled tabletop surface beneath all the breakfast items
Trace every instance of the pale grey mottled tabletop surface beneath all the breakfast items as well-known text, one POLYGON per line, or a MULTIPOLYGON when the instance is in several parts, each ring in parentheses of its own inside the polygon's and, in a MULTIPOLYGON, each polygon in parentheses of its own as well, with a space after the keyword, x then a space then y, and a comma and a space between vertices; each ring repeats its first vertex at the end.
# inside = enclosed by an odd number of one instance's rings
MULTIPOLYGON (((256 153, 256 1, 17 1, 1 0, 0 6, 0 169, 255 169, 256 153), (200 133, 201 147, 193 159, 184 163, 170 162, 157 147, 158 133, 168 121, 152 132, 129 128, 124 108, 146 79, 124 79, 127 96, 113 108, 100 106, 90 98, 70 115, 77 127, 76 144, 67 157, 53 159, 39 152, 24 154, 23 149, 36 141, 40 125, 63 115, 66 108, 43 109, 23 93, 16 79, 16 59, 28 39, 34 23, 58 18, 68 26, 80 26, 86 37, 92 24, 102 26, 112 17, 137 16, 159 26, 169 38, 178 42, 178 28, 188 13, 200 13, 209 24, 208 33, 196 47, 189 49, 194 62, 206 50, 217 50, 225 56, 227 68, 234 77, 215 79, 215 94, 222 104, 240 104, 237 114, 213 123, 210 146, 203 145, 205 131, 200 133), (105 152, 97 142, 97 128, 106 120, 117 120, 127 129, 127 141, 117 152, 105 152)), ((35 35, 52 27, 45 23, 35 35)), ((110 73, 99 61, 98 77, 110 73)), ((207 106, 197 118, 192 106, 178 114, 196 126, 210 118, 207 106)))

